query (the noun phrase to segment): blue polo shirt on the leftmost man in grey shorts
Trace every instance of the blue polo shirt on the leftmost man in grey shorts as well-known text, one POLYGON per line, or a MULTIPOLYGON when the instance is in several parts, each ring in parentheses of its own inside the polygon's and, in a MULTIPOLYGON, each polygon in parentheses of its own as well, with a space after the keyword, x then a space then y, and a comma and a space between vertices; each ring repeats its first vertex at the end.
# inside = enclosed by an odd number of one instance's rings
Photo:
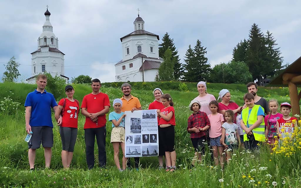
POLYGON ((32 127, 48 126, 52 127, 51 108, 57 106, 53 94, 37 91, 30 92, 25 100, 24 106, 31 106, 29 125, 32 127))

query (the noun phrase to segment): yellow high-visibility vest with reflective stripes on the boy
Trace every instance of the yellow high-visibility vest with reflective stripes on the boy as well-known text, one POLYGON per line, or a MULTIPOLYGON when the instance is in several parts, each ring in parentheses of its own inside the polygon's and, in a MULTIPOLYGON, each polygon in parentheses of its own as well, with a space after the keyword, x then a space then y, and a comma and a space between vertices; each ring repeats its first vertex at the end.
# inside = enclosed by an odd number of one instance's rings
MULTIPOLYGON (((260 105, 253 106, 250 116, 249 116, 249 119, 248 119, 249 107, 243 109, 243 111, 241 112, 241 117, 242 117, 246 127, 248 127, 247 121, 249 123, 249 127, 251 127, 257 121, 257 112, 258 112, 259 107, 262 108, 262 106, 260 106, 260 105)), ((262 108, 262 110, 264 111, 263 108, 262 108)), ((255 140, 258 140, 258 141, 265 140, 265 130, 264 129, 265 129, 264 118, 262 118, 261 124, 252 130, 255 140)), ((249 138, 247 137, 247 134, 245 133, 244 130, 243 130, 243 132, 244 132, 244 141, 249 141, 249 138)))

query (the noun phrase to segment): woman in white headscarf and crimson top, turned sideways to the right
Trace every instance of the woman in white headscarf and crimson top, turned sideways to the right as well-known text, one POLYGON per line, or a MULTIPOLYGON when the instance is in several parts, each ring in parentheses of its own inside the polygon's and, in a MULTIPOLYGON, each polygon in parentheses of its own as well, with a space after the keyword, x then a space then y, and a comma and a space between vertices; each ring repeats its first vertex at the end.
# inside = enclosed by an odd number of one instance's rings
POLYGON ((221 113, 225 118, 225 111, 228 109, 232 110, 234 112, 233 121, 236 123, 237 113, 240 113, 243 107, 238 106, 236 103, 230 100, 231 94, 228 89, 222 89, 219 91, 219 98, 217 100, 219 99, 222 99, 222 101, 219 103, 219 113, 221 113))

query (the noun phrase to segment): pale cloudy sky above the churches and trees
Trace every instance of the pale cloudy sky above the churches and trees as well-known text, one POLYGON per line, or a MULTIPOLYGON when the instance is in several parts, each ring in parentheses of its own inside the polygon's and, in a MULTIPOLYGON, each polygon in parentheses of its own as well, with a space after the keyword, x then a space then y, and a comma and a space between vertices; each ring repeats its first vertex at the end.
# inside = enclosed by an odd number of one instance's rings
MULTIPOLYGON (((50 22, 65 55, 65 75, 84 74, 101 82, 115 81, 114 64, 122 59, 120 37, 134 31, 136 9, 145 30, 174 39, 181 62, 188 45, 200 39, 213 67, 232 58, 232 49, 248 39, 253 23, 277 40, 284 63, 301 56, 301 1, 0 1, 0 77, 3 63, 15 56, 22 64, 20 80, 31 76, 31 52, 45 22, 50 22), (299 34, 298 34, 299 33, 299 34), (105 63, 103 65, 100 65, 105 63), (83 66, 84 65, 84 66, 83 66)), ((161 41, 159 41, 160 43, 161 41)))

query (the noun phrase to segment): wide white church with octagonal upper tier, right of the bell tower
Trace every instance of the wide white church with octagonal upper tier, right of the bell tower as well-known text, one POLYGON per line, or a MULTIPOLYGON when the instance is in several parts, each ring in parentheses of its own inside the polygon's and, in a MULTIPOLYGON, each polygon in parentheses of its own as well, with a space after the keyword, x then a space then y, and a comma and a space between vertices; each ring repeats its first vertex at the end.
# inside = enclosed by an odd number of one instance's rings
POLYGON ((159 35, 144 30, 139 16, 134 31, 120 38, 123 58, 115 64, 116 82, 152 82, 163 61, 159 57, 159 35))

